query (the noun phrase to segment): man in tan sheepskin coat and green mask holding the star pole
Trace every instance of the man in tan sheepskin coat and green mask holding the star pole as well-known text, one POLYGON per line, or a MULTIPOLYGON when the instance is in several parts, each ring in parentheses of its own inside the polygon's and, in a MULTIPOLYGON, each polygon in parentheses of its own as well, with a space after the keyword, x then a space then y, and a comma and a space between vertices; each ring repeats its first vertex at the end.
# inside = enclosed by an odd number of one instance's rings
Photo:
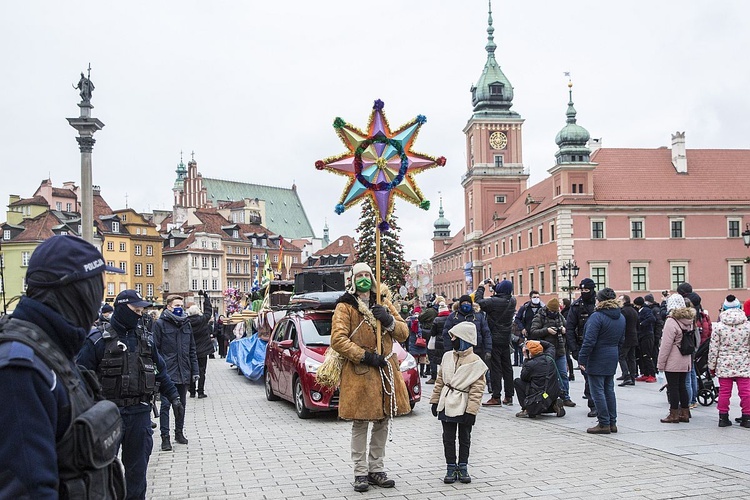
POLYGON ((370 485, 393 488, 395 482, 383 470, 388 425, 390 418, 411 411, 393 342, 405 341, 409 328, 386 298, 388 289, 383 285, 379 287, 381 304, 377 304, 375 290, 379 284, 369 265, 355 264, 350 278, 349 288, 336 304, 331 326, 331 347, 346 359, 341 370, 339 418, 353 421, 354 490, 367 491, 370 485), (381 354, 377 347, 378 322, 381 354), (391 398, 394 392, 395 401, 391 398))

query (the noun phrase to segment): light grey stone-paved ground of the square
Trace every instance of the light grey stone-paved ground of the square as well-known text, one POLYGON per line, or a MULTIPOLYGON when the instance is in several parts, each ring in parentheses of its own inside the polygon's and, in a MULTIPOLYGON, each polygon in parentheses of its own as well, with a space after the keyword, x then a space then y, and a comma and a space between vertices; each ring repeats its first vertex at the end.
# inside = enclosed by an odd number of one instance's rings
MULTIPOLYGON (((518 368, 516 368, 518 370, 518 368)), ((518 373, 516 371, 516 373, 518 373)), ((286 401, 267 401, 262 381, 210 359, 206 399, 189 399, 188 445, 162 452, 158 429, 148 470, 152 499, 750 499, 750 429, 717 427, 716 406, 689 424, 662 424, 657 384, 616 388, 617 434, 589 435, 579 404, 563 418, 518 419, 517 404, 482 408, 472 433, 470 484, 442 482, 441 426, 424 398, 394 421, 386 470, 396 488, 352 489, 351 424, 335 414, 297 418, 286 401)), ((428 392, 432 386, 423 386, 428 392)), ((739 404, 732 400, 732 418, 739 404)))

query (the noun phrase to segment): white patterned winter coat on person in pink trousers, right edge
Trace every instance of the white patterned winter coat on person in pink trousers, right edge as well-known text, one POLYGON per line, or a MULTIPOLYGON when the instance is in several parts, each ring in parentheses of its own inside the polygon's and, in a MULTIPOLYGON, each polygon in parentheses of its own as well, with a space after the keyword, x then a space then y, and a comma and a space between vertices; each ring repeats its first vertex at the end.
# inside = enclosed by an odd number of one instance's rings
POLYGON ((708 369, 720 378, 750 377, 750 322, 742 309, 719 315, 708 348, 708 369))

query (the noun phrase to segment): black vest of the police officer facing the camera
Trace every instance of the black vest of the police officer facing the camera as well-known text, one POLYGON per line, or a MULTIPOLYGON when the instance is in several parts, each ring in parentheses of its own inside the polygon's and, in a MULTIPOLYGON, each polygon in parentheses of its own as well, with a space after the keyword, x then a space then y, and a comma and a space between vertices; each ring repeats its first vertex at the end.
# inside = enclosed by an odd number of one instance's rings
POLYGON ((136 328, 138 344, 131 351, 110 325, 99 331, 105 344, 96 373, 104 397, 121 408, 150 401, 156 386, 156 366, 148 333, 136 328))

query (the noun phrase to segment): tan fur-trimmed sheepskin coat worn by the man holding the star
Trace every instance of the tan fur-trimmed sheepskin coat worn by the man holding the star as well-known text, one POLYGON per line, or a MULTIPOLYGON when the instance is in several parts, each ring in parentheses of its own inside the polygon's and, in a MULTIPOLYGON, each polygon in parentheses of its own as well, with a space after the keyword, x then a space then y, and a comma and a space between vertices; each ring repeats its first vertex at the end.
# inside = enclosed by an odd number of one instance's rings
MULTIPOLYGON (((388 357, 393 351, 393 341, 405 341, 409 337, 409 328, 390 300, 383 296, 387 288, 381 286, 380 290, 381 303, 395 320, 392 331, 381 327, 381 352, 388 357)), ((380 370, 361 363, 365 351, 377 352, 376 331, 371 326, 375 321, 369 310, 375 304, 374 292, 370 292, 369 308, 365 308, 357 297, 346 292, 338 300, 333 313, 331 347, 346 358, 339 387, 339 418, 345 420, 375 421, 390 415, 391 398, 383 392, 380 370)), ((396 386, 396 415, 405 415, 411 411, 409 393, 399 370, 396 354, 388 358, 388 361, 396 386)), ((387 373, 388 369, 385 368, 384 371, 387 373)), ((387 384, 386 388, 390 391, 387 384)))

